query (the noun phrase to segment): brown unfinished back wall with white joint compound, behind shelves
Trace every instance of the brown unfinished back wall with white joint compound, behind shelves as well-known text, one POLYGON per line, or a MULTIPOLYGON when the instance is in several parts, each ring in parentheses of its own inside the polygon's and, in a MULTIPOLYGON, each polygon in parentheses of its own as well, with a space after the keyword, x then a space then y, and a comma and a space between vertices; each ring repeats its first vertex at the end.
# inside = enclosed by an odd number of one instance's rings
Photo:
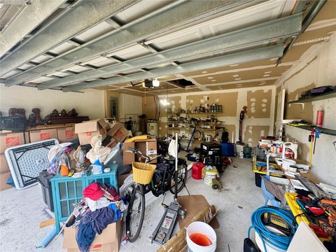
MULTIPOLYGON (((239 139, 239 115, 243 106, 248 106, 248 113, 245 114, 243 122, 243 141, 250 143, 252 146, 258 145, 258 139, 262 136, 272 134, 274 120, 274 97, 275 86, 239 88, 235 90, 195 92, 184 94, 169 94, 167 99, 170 103, 169 107, 173 111, 182 109, 194 109, 200 104, 207 107, 207 104, 221 104, 223 112, 216 114, 216 117, 221 121, 228 133, 229 139, 234 141, 239 139)), ((159 99, 165 99, 165 96, 159 96, 159 99)), ((161 104, 160 106, 160 122, 159 136, 173 134, 179 132, 186 135, 188 138, 191 134, 190 130, 174 129, 168 127, 168 118, 172 114, 167 113, 167 107, 161 104)), ((211 113, 209 113, 211 115, 211 113)), ((185 115, 181 115, 185 116, 185 115)), ((207 117, 207 115, 192 115, 193 117, 207 117)), ((211 130, 204 130, 204 134, 211 134, 214 137, 215 133, 211 130)), ((197 143, 194 145, 197 145, 197 143)))

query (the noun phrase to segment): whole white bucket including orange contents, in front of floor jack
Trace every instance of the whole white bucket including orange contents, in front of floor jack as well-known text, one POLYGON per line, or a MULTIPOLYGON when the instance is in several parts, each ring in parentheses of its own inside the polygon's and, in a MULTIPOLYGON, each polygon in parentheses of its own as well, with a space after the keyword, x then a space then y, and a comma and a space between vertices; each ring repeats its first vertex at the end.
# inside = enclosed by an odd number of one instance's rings
POLYGON ((214 252, 217 237, 214 228, 202 221, 190 223, 186 232, 188 252, 214 252), (205 245, 205 246, 204 246, 205 245))

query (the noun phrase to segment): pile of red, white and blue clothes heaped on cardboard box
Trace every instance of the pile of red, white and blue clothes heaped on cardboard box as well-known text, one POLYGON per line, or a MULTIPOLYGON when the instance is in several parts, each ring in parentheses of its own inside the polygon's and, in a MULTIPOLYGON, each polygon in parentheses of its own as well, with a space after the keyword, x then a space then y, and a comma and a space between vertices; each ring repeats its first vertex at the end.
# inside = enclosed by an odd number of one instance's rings
POLYGON ((92 183, 83 190, 85 197, 73 209, 71 227, 78 226, 76 241, 82 252, 90 250, 94 237, 111 223, 116 223, 127 209, 125 201, 120 198, 116 189, 109 184, 92 183))

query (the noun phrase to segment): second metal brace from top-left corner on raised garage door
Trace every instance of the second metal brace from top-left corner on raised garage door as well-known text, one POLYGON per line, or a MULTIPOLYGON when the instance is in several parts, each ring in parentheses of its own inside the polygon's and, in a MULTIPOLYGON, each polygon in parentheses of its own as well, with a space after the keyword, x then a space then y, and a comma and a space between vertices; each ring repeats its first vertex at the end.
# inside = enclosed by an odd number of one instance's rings
POLYGON ((1 61, 1 75, 118 13, 134 0, 78 0, 1 61))

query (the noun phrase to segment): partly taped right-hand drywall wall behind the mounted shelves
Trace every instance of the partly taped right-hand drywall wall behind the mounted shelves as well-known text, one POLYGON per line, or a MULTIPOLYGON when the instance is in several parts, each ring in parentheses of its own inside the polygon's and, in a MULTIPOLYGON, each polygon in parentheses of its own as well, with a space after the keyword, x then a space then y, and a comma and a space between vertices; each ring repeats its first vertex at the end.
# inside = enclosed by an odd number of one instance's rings
MULTIPOLYGON (((301 92, 313 87, 336 85, 336 36, 329 41, 311 46, 283 78, 276 83, 276 93, 286 90, 286 102, 298 99, 301 92)), ((278 108, 278 113, 281 108, 278 108)), ((336 97, 304 104, 286 104, 285 119, 304 119, 316 123, 316 111, 323 109, 323 127, 336 130, 336 97)), ((308 130, 292 126, 285 128, 286 140, 299 141, 298 157, 309 160, 308 130)), ((316 141, 311 172, 321 181, 336 186, 336 148, 332 142, 335 136, 321 134, 316 141)))

